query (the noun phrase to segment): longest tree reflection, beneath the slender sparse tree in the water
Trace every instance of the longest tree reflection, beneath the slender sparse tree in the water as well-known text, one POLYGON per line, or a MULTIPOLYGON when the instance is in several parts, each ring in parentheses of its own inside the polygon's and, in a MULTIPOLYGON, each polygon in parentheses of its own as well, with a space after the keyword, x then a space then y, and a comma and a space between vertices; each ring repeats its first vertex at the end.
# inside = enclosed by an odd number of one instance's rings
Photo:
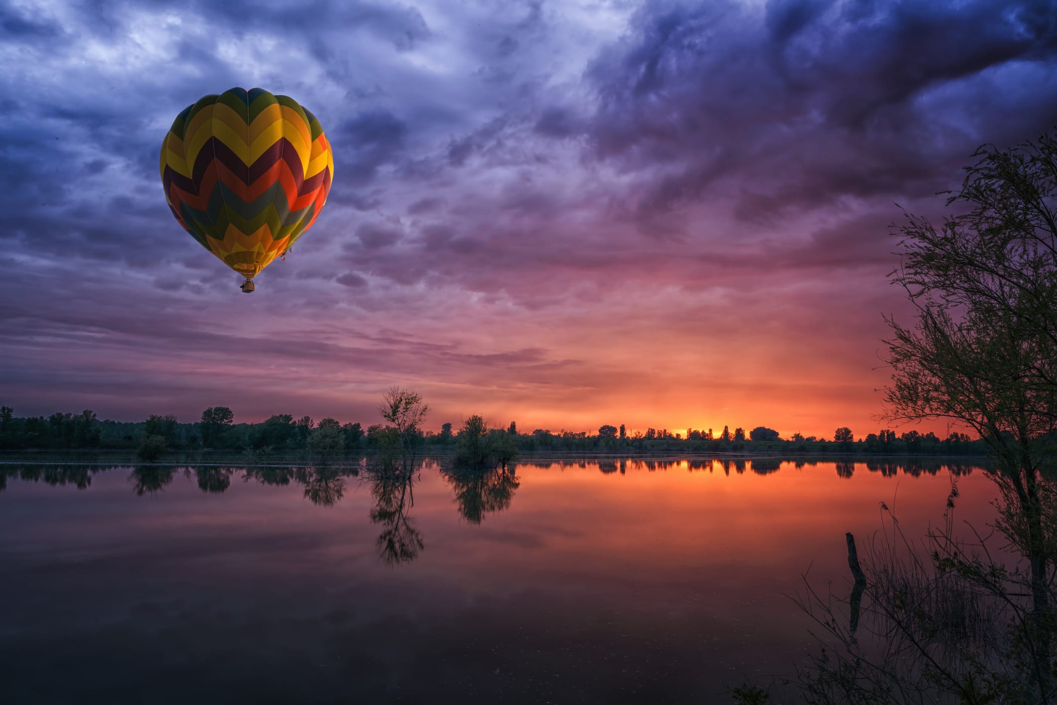
POLYGON ((378 556, 389 565, 410 562, 425 548, 422 534, 407 516, 414 505, 412 471, 409 467, 379 467, 367 471, 374 506, 371 521, 382 524, 375 545, 378 556))

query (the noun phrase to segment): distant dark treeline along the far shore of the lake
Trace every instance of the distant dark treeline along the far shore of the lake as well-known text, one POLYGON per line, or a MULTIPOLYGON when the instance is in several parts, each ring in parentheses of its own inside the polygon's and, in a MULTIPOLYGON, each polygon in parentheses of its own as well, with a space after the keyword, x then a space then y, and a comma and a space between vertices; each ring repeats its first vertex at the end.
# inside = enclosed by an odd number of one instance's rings
MULTIPOLYGON (((471 418, 472 419, 477 419, 471 418)), ((318 423, 310 416, 295 419, 280 413, 259 424, 236 424, 227 407, 209 407, 194 423, 180 423, 172 414, 151 414, 141 422, 99 421, 95 413, 53 413, 50 416, 16 416, 11 407, 0 407, 0 448, 5 449, 82 449, 110 448, 135 449, 148 439, 164 441, 168 449, 312 449, 313 439, 327 441, 331 448, 344 451, 370 450, 384 447, 391 441, 391 426, 374 424, 366 429, 359 423, 340 423, 323 419, 318 423)), ((467 420, 469 421, 469 420, 467 420)), ((667 429, 647 429, 645 433, 627 433, 624 426, 604 425, 597 434, 586 431, 552 432, 537 428, 531 433, 518 431, 511 422, 504 429, 482 429, 482 432, 505 433, 506 442, 520 451, 549 452, 625 452, 625 451, 681 451, 681 452, 855 452, 871 454, 984 454, 984 444, 964 433, 950 433, 940 439, 934 433, 916 430, 896 434, 889 429, 856 439, 847 427, 836 429, 833 439, 803 437, 794 433, 782 439, 778 431, 758 426, 747 434, 741 428, 733 432, 724 427, 719 433, 711 429, 689 429, 686 438, 667 429)), ((451 424, 440 432, 422 431, 416 427, 404 431, 410 446, 455 445, 457 434, 451 424)))

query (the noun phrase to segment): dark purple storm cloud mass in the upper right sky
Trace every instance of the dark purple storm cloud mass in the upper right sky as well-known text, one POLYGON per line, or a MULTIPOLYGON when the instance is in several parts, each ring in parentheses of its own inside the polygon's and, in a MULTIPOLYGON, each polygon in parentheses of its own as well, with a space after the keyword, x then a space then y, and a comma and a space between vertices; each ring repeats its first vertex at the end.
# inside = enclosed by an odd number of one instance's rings
POLYGON ((641 217, 724 179, 740 181, 745 217, 920 196, 980 142, 1033 136, 1057 114, 1049 1, 793 0, 757 15, 649 3, 591 67, 590 135, 600 159, 648 174, 641 217))

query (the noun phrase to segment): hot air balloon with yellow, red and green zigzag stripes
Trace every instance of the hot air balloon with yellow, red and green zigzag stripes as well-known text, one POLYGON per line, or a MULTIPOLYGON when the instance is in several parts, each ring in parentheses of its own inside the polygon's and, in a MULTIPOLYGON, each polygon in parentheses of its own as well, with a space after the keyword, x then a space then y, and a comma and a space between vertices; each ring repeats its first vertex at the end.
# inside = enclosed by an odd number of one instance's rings
POLYGON ((316 116, 255 88, 207 95, 162 142, 172 215, 199 244, 254 277, 312 227, 327 202, 334 154, 316 116))

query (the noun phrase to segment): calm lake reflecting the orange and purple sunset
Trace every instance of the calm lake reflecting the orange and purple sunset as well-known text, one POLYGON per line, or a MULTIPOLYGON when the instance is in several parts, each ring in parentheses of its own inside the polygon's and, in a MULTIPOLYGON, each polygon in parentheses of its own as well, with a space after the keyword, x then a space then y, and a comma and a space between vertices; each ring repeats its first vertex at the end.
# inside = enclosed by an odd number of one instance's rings
POLYGON ((942 461, 532 458, 507 474, 0 465, 0 702, 712 703, 806 663, 879 503, 942 461))

